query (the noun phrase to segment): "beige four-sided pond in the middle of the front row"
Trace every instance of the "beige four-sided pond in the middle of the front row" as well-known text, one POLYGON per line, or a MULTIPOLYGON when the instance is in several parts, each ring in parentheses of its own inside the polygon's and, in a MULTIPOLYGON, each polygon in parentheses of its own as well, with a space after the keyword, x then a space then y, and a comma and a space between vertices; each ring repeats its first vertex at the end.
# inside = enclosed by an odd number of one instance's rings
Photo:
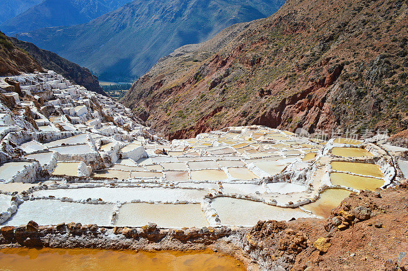
POLYGON ((200 204, 126 203, 119 209, 117 226, 143 226, 156 223, 162 228, 208 227, 200 204))

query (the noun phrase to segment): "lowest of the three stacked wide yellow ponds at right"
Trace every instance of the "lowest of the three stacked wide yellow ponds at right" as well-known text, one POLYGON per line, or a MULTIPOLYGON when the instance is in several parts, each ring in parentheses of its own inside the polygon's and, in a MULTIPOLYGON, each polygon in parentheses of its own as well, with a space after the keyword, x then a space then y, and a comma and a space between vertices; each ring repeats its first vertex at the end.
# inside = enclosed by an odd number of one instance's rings
POLYGON ((375 188, 384 185, 384 180, 382 179, 361 177, 339 172, 330 173, 330 181, 337 185, 344 185, 359 190, 369 189, 371 191, 375 191, 375 188))

